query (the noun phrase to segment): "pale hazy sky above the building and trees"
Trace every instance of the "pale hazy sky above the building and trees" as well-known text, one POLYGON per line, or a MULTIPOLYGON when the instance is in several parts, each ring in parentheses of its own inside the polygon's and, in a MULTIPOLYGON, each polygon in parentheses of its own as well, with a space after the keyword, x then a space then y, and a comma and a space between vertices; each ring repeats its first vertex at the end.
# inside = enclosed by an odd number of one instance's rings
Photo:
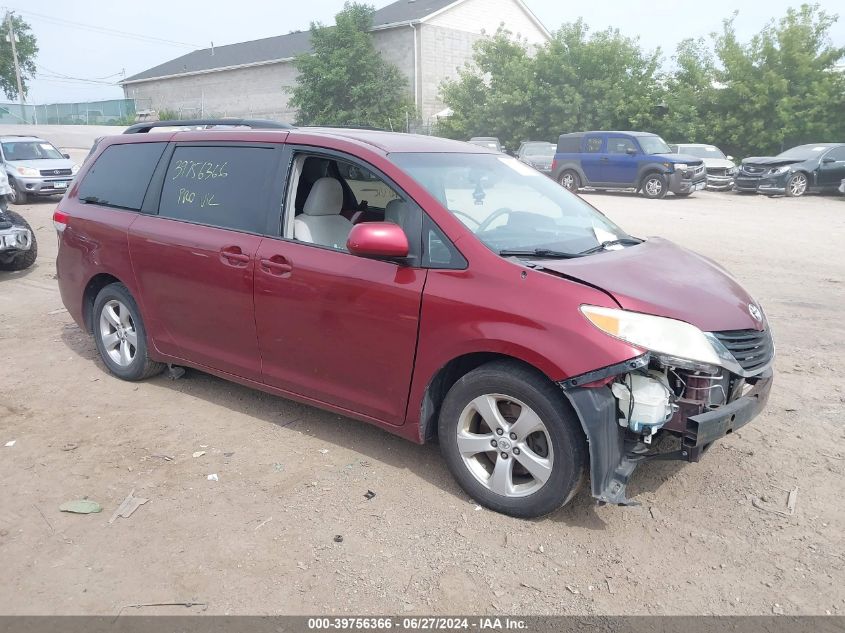
MULTIPOLYGON (((145 0, 100 2, 96 10, 57 11, 57 6, 71 5, 58 0, 7 2, 6 8, 29 22, 38 38, 39 75, 30 85, 27 101, 39 104, 120 98, 123 93, 116 82, 122 72, 133 75, 211 42, 233 44, 307 29, 311 21, 332 23, 343 8, 343 0, 239 0, 234 4, 145 0)), ((390 0, 370 3, 380 8, 390 0)), ((639 37, 647 49, 660 47, 667 58, 680 40, 719 30, 722 20, 735 10, 739 11, 737 33, 747 41, 772 17, 800 4, 800 0, 657 4, 654 0, 526 0, 549 30, 582 17, 593 30, 617 27, 625 35, 639 37)), ((820 4, 833 14, 843 7, 840 0, 821 0, 820 4)), ((832 39, 838 46, 845 45, 845 15, 834 26, 832 39)))

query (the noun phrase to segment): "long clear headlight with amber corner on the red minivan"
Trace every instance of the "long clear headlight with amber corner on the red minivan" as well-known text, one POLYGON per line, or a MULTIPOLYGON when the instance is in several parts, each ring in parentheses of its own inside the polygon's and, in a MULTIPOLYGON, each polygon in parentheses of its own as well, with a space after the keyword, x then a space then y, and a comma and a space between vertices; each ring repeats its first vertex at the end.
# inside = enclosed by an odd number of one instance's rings
POLYGON ((685 321, 590 305, 581 306, 581 313, 605 334, 636 347, 710 367, 722 364, 707 335, 685 321))

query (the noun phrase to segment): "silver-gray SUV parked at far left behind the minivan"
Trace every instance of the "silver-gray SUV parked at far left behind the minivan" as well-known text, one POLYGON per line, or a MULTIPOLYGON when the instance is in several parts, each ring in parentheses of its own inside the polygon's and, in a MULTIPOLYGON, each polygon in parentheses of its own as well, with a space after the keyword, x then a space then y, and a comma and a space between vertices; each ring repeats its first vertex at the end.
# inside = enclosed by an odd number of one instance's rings
POLYGON ((0 136, 0 159, 15 204, 26 204, 30 196, 63 195, 79 171, 68 154, 37 136, 0 136))

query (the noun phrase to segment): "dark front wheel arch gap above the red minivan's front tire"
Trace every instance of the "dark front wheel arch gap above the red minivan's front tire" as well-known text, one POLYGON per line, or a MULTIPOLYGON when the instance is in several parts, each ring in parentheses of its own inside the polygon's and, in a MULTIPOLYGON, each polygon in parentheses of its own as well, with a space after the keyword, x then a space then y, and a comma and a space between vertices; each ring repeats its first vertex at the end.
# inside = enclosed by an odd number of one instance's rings
POLYGON ((437 418, 440 408, 449 389, 462 377, 474 369, 493 361, 509 361, 521 365, 538 377, 553 382, 549 376, 536 365, 522 358, 502 352, 470 352, 451 359, 428 381, 420 406, 419 434, 423 443, 433 441, 437 437, 437 418))

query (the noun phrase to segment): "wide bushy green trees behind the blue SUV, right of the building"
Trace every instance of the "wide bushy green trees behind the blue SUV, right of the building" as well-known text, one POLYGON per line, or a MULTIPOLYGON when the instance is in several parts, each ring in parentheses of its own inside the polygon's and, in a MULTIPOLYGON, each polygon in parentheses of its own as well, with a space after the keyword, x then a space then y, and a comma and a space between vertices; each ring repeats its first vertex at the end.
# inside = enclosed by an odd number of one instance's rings
POLYGON ((476 43, 473 63, 441 87, 454 138, 495 135, 514 147, 563 132, 638 129, 655 118, 660 51, 644 52, 616 29, 564 24, 536 50, 500 30, 476 43))

